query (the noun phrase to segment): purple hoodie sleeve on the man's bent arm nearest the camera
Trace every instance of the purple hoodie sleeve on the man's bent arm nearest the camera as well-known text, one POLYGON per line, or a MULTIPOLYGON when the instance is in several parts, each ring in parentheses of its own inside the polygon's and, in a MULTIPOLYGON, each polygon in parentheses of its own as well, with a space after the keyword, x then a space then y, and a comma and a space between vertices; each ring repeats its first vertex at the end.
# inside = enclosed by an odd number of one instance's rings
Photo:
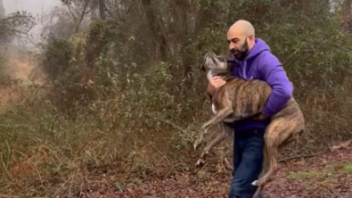
POLYGON ((274 113, 281 111, 285 103, 289 101, 293 86, 283 70, 281 62, 273 54, 266 54, 263 58, 258 70, 263 80, 273 88, 273 91, 262 114, 266 117, 272 117, 274 113))

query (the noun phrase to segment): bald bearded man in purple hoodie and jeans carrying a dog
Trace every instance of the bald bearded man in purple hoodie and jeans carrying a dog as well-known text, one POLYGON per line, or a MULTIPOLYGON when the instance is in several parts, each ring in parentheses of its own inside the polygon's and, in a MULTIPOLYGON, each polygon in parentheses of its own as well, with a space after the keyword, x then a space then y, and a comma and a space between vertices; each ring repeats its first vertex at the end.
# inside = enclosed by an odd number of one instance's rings
MULTIPOLYGON (((233 60, 241 67, 233 69, 233 75, 244 79, 260 79, 273 87, 264 110, 254 120, 233 123, 234 148, 233 169, 229 198, 251 198, 257 186, 251 183, 258 179, 262 169, 264 133, 268 119, 291 98, 293 87, 282 68, 281 62, 271 54, 270 47, 256 38, 249 21, 236 21, 227 32, 233 60)), ((214 93, 225 84, 215 77, 209 82, 208 91, 214 93)), ((263 197, 262 195, 260 195, 263 197)))

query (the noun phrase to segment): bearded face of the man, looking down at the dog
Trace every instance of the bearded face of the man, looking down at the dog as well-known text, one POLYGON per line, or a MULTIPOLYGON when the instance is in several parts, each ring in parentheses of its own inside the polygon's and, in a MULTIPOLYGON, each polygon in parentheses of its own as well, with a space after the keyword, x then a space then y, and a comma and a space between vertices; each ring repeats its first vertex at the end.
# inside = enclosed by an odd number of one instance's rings
POLYGON ((250 46, 248 45, 247 37, 227 37, 229 42, 229 49, 233 56, 239 60, 243 61, 246 55, 250 51, 250 46))

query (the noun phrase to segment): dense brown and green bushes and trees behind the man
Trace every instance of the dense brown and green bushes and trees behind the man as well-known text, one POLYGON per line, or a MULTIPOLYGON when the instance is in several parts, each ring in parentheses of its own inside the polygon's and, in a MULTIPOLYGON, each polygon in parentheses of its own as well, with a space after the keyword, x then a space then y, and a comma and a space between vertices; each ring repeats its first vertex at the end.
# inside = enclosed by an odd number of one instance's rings
POLYGON ((202 58, 227 53, 225 32, 240 19, 281 60, 305 113, 306 132, 282 154, 351 138, 349 1, 334 12, 327 0, 62 2, 36 54, 45 84, 21 89, 22 103, 0 114, 6 194, 76 196, 98 173, 193 169, 192 143, 210 116, 202 58))

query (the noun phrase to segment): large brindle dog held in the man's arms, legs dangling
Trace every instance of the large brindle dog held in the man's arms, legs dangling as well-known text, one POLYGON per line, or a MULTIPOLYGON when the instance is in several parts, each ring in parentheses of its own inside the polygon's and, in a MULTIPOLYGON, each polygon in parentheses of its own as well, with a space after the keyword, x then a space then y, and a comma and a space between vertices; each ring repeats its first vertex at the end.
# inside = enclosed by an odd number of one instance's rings
MULTIPOLYGON (((207 143, 201 153, 201 158, 197 161, 197 166, 204 164, 206 155, 214 146, 232 136, 233 129, 226 123, 258 116, 272 93, 272 87, 265 81, 234 78, 231 73, 233 64, 229 64, 223 56, 217 56, 213 53, 206 54, 203 67, 209 80, 214 76, 221 76, 226 84, 219 87, 212 95, 212 111, 215 116, 201 127, 194 149, 202 144, 203 136, 207 133, 208 128, 219 124, 222 130, 219 130, 218 135, 207 143)), ((266 128, 264 137, 263 169, 258 180, 252 183, 253 186, 258 186, 253 197, 258 197, 269 181, 269 177, 278 169, 278 153, 287 145, 297 142, 304 128, 303 112, 293 97, 285 104, 282 111, 270 118, 270 124, 266 128)))

